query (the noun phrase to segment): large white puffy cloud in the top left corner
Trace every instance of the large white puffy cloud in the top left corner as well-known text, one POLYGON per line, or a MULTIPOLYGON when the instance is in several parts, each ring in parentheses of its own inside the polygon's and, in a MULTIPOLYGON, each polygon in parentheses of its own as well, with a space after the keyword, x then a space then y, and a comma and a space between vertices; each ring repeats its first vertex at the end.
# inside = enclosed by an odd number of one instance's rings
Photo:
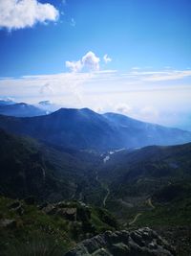
POLYGON ((0 0, 0 27, 8 30, 32 27, 37 22, 56 21, 59 12, 38 0, 0 0))

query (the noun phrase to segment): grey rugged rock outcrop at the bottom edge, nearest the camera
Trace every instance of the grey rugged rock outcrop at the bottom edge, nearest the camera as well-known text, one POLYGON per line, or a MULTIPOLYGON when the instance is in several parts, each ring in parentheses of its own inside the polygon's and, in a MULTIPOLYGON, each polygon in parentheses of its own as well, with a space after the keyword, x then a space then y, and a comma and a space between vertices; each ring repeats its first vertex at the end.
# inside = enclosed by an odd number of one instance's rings
POLYGON ((175 256, 175 250, 157 232, 145 227, 136 231, 106 231, 84 240, 65 256, 175 256))

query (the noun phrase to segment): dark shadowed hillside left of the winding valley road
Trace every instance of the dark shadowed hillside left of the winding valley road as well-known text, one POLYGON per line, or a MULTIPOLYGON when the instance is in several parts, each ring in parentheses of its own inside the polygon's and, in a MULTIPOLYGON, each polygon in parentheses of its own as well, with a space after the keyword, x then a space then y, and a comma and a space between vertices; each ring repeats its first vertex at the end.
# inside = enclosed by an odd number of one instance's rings
POLYGON ((96 154, 69 149, 58 151, 2 129, 0 142, 1 195, 55 201, 83 198, 87 194, 87 200, 95 198, 96 203, 95 195, 102 191, 93 175, 99 163, 96 154))

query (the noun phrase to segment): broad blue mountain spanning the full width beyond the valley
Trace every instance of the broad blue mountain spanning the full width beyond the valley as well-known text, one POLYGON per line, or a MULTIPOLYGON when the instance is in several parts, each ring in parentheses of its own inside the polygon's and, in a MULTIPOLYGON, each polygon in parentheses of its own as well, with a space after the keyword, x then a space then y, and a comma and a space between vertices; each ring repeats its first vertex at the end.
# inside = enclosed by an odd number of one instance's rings
POLYGON ((189 131, 147 124, 114 113, 101 115, 89 108, 61 108, 31 118, 0 116, 0 128, 64 148, 97 151, 191 141, 189 131))

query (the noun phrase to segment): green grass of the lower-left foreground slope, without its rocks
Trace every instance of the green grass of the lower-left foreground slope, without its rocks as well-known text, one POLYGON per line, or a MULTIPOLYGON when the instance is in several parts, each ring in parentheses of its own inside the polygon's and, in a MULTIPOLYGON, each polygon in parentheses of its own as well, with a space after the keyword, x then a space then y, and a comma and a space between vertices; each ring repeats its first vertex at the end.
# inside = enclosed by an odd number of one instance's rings
POLYGON ((98 207, 81 205, 78 202, 63 202, 60 208, 75 208, 77 211, 76 221, 69 221, 57 214, 48 215, 36 205, 27 205, 24 201, 20 201, 23 214, 19 214, 11 208, 13 202, 15 200, 0 197, 0 223, 3 220, 15 221, 11 226, 0 225, 1 255, 17 255, 11 253, 18 244, 19 246, 28 244, 30 247, 29 244, 33 242, 34 246, 39 246, 40 243, 43 246, 46 244, 56 246, 63 253, 87 236, 91 237, 105 230, 117 228, 114 217, 98 207), (8 249, 11 249, 11 252, 8 252, 8 249))

